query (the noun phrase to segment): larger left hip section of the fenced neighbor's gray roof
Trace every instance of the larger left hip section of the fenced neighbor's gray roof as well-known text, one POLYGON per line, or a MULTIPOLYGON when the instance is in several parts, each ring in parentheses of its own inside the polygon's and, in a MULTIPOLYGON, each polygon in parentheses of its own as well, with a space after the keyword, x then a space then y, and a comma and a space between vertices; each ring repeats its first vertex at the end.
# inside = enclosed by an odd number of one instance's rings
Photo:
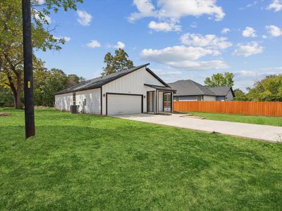
POLYGON ((194 82, 190 79, 188 80, 179 80, 177 82, 168 84, 172 89, 176 89, 176 94, 174 96, 190 96, 190 95, 209 95, 214 96, 209 87, 204 87, 197 82, 194 82))

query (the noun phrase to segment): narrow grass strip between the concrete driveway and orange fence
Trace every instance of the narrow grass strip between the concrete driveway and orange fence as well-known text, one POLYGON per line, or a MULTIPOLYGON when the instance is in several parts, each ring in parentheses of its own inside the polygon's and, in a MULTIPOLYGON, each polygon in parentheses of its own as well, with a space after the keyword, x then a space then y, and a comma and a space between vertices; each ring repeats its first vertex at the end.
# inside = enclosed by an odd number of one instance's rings
POLYGON ((250 124, 266 124, 282 127, 282 117, 264 117, 264 116, 251 116, 251 115, 233 115, 226 113, 199 113, 188 112, 193 115, 204 117, 207 120, 219 120, 227 122, 243 122, 250 124))

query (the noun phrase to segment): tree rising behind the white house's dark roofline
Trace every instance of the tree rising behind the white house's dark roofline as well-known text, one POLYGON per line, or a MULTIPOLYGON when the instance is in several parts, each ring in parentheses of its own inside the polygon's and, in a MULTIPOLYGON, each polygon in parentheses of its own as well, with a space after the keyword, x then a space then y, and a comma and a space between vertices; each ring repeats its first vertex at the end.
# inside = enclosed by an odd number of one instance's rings
POLYGON ((116 50, 114 56, 110 52, 106 53, 104 63, 106 63, 106 67, 103 68, 102 75, 109 75, 127 68, 133 68, 133 61, 128 59, 128 53, 123 49, 116 50))

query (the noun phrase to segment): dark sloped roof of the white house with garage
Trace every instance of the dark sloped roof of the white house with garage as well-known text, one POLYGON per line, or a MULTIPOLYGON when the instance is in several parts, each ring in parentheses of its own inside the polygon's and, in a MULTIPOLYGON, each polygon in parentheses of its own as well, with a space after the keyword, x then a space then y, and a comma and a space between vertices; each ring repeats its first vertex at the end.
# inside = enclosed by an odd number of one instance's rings
MULTIPOLYGON (((56 94, 66 94, 66 93, 70 93, 70 92, 73 92, 73 91, 83 91, 83 90, 87 90, 87 89, 96 89, 96 88, 102 87, 104 84, 108 84, 109 82, 114 81, 115 79, 118 79, 120 77, 128 75, 131 72, 139 70, 140 68, 144 68, 147 65, 149 65, 149 63, 147 63, 145 65, 139 65, 139 66, 134 67, 134 68, 122 70, 121 72, 114 72, 114 73, 109 74, 109 75, 96 77, 94 79, 87 80, 86 82, 82 82, 80 84, 77 84, 73 87, 69 87, 68 89, 64 89, 62 91, 59 91, 56 94)), ((166 84, 157 75, 155 75, 154 72, 152 72, 152 70, 149 70, 149 68, 146 68, 146 70, 149 73, 151 73, 154 77, 156 77, 159 80, 159 82, 161 82, 161 84, 164 84, 165 87, 169 87, 168 84, 166 84)))

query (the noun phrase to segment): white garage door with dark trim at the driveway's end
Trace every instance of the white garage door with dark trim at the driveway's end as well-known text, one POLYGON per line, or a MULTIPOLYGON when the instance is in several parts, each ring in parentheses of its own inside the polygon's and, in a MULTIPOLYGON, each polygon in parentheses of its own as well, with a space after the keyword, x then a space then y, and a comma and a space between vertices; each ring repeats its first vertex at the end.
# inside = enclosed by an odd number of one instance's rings
POLYGON ((107 94, 107 114, 121 115, 142 113, 142 96, 129 94, 107 94))

